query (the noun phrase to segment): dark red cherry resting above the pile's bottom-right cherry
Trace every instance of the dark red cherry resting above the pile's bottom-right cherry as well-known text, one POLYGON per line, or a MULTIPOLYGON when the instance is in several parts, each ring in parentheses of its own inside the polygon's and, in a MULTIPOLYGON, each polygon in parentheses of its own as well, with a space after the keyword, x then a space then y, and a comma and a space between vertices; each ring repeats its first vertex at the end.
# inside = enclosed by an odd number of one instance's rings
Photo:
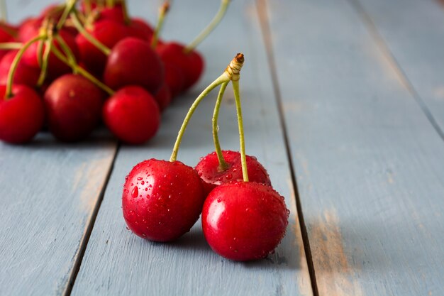
POLYGON ((150 43, 128 37, 111 50, 106 62, 104 82, 112 89, 140 85, 155 94, 164 82, 164 69, 150 43))

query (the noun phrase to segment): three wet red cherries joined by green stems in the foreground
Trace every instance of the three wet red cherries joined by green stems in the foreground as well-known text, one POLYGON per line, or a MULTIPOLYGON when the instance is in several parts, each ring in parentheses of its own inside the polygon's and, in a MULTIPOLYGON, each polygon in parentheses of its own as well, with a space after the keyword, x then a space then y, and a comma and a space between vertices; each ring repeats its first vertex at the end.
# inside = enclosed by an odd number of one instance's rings
POLYGON ((151 241, 174 241, 202 214, 206 241, 219 255, 249 261, 265 258, 285 235, 289 210, 271 185, 265 168, 245 155, 239 79, 243 54, 197 97, 179 130, 170 161, 150 159, 135 165, 123 185, 123 217, 134 234, 151 241), (218 112, 228 82, 233 84, 240 152, 221 150, 218 112), (216 151, 195 168, 177 160, 182 136, 195 109, 220 86, 213 112, 216 151))

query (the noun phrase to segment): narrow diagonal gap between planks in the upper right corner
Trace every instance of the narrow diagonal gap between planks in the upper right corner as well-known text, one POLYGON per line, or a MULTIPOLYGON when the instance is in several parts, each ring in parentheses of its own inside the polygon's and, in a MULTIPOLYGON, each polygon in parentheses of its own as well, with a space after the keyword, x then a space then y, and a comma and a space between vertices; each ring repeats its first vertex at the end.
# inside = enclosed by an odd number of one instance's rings
MULTIPOLYGON (((260 0, 263 1, 263 0, 260 0)), ((411 93, 412 97, 414 97, 416 103, 421 108, 421 111, 423 111, 423 114, 426 115, 428 121, 431 123, 435 131, 438 133, 440 138, 444 141, 444 132, 438 125, 438 122, 436 121, 435 117, 433 116, 432 112, 427 106, 426 101, 423 100, 423 98, 419 95, 419 93, 416 91, 415 87, 409 80, 409 77, 407 77, 406 72, 402 69, 401 65, 399 64, 398 60, 396 60, 396 57, 394 57, 392 51, 389 49, 389 46, 385 42, 382 35, 379 33, 377 26, 375 25, 372 17, 370 16, 367 11, 365 11, 364 6, 360 3, 360 0, 347 0, 348 3, 350 3, 350 6, 355 9, 358 16, 362 18, 362 22, 367 27, 368 31, 370 32, 370 35, 374 39, 377 47, 381 50, 382 55, 386 57, 387 62, 389 62, 389 65, 392 66, 394 69, 394 72, 396 72, 396 75, 398 75, 398 78, 401 82, 401 84, 406 87, 406 89, 411 93)), ((440 2, 443 4, 444 0, 440 0, 440 2)))

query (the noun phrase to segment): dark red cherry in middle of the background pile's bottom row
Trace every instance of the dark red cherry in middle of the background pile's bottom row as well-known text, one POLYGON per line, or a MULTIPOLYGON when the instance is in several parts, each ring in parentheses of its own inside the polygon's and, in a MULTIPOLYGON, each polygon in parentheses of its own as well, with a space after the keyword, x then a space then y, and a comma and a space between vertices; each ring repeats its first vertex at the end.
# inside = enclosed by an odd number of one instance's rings
POLYGON ((99 122, 104 92, 82 76, 67 74, 50 84, 44 102, 52 134, 61 141, 79 141, 99 122))

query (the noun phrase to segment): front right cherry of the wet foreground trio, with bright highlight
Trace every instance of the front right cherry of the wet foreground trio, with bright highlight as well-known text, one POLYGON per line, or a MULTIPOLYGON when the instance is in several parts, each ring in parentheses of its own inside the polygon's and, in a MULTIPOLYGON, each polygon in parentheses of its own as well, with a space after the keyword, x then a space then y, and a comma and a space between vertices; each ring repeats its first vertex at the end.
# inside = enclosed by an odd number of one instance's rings
POLYGON ((265 258, 285 235, 289 211, 272 187, 234 182, 216 187, 204 203, 202 228, 219 255, 250 261, 265 258))

